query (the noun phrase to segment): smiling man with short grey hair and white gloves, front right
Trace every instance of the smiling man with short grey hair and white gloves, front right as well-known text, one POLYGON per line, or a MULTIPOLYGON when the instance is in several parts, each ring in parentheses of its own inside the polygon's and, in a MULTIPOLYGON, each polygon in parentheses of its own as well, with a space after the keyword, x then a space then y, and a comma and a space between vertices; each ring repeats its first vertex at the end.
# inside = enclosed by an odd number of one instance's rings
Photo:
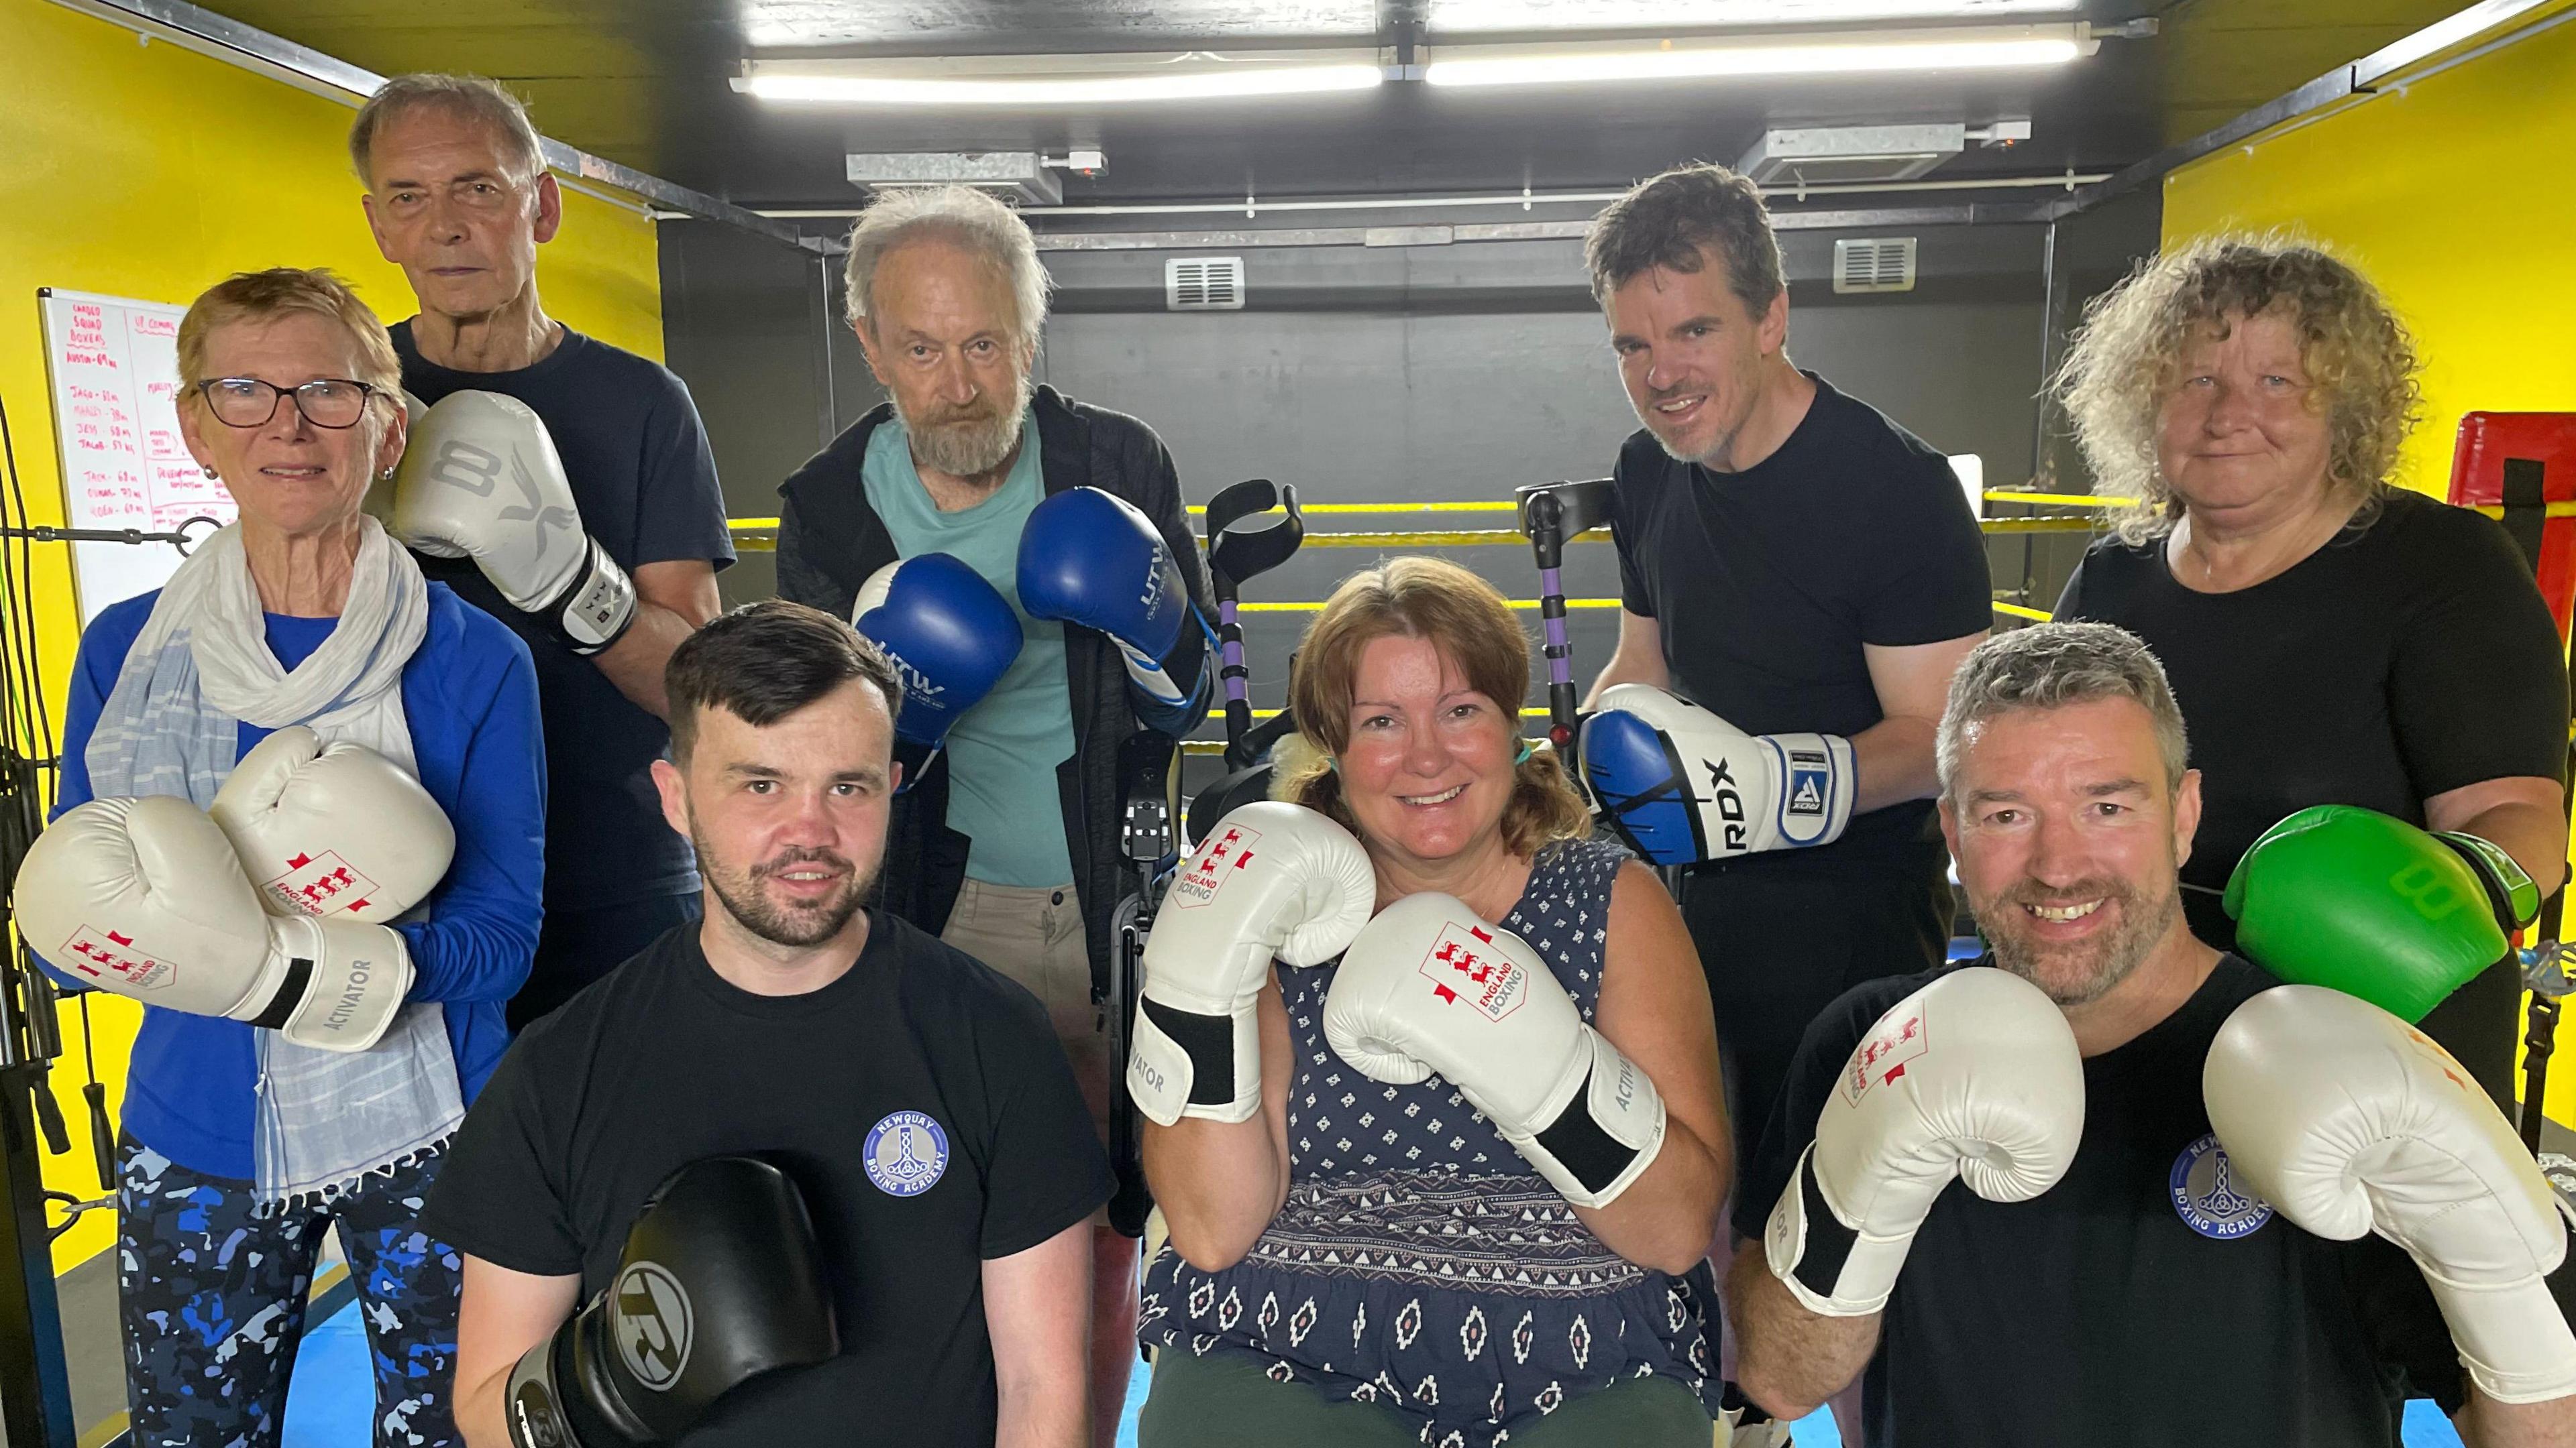
POLYGON ((2200 776, 2146 644, 2107 624, 1989 639, 1937 760, 1991 953, 1862 984, 1808 1028, 1736 1190, 1739 1386, 1801 1417, 1865 1373, 1870 1448, 2388 1445, 2406 1396, 2470 1445, 2568 1443, 2548 1188, 2465 1074, 2442 1087, 2434 1046, 2406 1067, 2403 1023, 2190 935, 2200 776), (2277 1018, 2300 1031, 2264 1036, 2277 1018), (2262 1092, 2221 1069, 2249 1043, 2277 1072, 2262 1092), (2519 1165, 2463 1167, 2481 1141, 2519 1165), (2501 1177, 2537 1193, 2519 1226, 2548 1250, 2501 1226, 2501 1177), (2306 1232, 2342 1183, 2375 1214, 2336 1232, 2360 1239, 2306 1232), (2543 1345, 2543 1373, 2473 1350, 2506 1286, 2527 1314, 2506 1337, 2543 1345))

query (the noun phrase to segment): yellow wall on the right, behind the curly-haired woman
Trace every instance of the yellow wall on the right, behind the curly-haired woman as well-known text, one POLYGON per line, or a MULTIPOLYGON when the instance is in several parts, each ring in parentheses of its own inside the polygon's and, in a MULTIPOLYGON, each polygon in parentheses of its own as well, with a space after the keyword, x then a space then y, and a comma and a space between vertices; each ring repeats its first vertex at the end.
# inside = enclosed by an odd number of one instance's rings
MULTIPOLYGON (((2424 356, 2398 482, 2439 497, 2463 412, 2576 410, 2571 155, 2576 23, 2177 170, 2164 240, 2298 227, 2378 278, 2424 356)), ((2576 1015, 2548 1113, 2576 1126, 2576 1015)))

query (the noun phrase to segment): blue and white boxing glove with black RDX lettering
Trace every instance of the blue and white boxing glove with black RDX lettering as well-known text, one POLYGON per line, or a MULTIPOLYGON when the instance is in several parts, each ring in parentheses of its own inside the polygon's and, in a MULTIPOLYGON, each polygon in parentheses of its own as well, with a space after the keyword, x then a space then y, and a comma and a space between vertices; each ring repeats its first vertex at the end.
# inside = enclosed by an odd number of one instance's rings
POLYGON ((1584 783, 1659 866, 1832 845, 1852 822, 1852 742, 1747 734, 1649 683, 1615 683, 1584 719, 1584 783))

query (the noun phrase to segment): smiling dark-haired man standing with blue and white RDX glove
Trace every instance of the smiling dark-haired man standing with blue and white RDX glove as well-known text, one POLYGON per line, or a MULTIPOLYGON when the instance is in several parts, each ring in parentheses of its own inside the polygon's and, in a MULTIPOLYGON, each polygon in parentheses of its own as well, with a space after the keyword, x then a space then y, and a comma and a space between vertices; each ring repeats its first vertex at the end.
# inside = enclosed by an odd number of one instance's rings
POLYGON ((1587 776, 1638 853, 1690 866, 1682 917, 1744 1157, 1824 1002, 1945 953, 1932 724, 1986 636, 1986 544, 1940 448, 1790 363, 1780 245, 1749 180, 1667 170, 1605 209, 1584 252, 1646 425, 1615 474, 1618 654, 1584 709, 1618 711, 1636 685, 1690 701, 1649 698, 1659 724, 1700 721, 1638 739, 1636 757, 1682 760, 1682 791, 1664 768, 1597 768, 1610 750, 1589 727, 1587 776), (1649 819, 1674 794, 1705 827, 1649 819), (1747 799, 1775 827, 1747 832, 1747 799))

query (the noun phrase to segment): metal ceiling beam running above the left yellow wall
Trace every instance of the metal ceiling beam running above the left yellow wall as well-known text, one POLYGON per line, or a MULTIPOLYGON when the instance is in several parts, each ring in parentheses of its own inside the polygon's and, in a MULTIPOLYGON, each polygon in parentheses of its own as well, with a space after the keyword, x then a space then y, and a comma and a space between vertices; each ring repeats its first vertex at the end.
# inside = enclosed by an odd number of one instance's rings
MULTIPOLYGON (((255 26, 245 26, 229 15, 216 15, 204 5, 188 5, 185 0, 54 0, 67 10, 80 10, 85 15, 98 15, 113 26, 126 26, 139 36, 165 39, 170 44, 185 46, 196 54, 219 59, 224 64, 237 64, 252 70, 270 80, 283 80, 296 90, 309 95, 322 95, 325 100, 340 100, 345 106, 358 106, 374 95, 384 77, 348 64, 345 59, 327 57, 312 46, 299 46, 286 36, 273 36, 255 26)), ((840 242, 824 237, 806 237, 786 222, 760 216, 706 196, 703 191, 690 191, 685 186, 662 180, 659 175, 647 175, 631 165, 618 165, 605 157, 595 157, 585 149, 567 147, 554 137, 538 137, 546 165, 574 180, 587 180, 595 186, 608 186, 623 191, 634 201, 644 204, 647 214, 677 214, 696 216, 701 222, 721 222, 726 227, 739 227, 744 232, 783 242, 814 255, 840 255, 840 242)))

